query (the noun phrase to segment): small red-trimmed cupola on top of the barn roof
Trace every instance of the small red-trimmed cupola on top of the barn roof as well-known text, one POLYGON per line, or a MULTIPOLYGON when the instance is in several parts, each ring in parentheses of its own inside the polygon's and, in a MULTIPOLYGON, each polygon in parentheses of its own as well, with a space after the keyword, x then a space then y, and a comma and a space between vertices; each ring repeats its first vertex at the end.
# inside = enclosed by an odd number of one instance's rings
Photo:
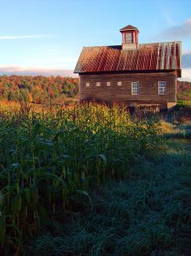
POLYGON ((122 33, 122 49, 136 50, 138 49, 138 29, 136 26, 124 26, 120 29, 122 33))

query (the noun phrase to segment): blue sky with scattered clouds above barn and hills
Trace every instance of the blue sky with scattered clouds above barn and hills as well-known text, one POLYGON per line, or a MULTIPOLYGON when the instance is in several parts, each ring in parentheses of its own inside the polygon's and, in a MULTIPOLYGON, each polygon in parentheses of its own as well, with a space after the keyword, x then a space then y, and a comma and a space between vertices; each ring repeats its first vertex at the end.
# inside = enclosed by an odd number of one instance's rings
POLYGON ((84 46, 182 41, 182 78, 191 80, 190 0, 0 0, 0 74, 72 75, 84 46))

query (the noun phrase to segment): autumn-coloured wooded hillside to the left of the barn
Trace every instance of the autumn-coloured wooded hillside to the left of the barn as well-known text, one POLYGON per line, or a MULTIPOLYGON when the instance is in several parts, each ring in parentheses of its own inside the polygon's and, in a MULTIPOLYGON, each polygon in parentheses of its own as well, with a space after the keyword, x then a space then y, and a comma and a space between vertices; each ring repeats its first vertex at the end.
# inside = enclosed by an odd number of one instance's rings
POLYGON ((78 79, 43 76, 0 76, 0 98, 37 104, 78 96, 78 79))

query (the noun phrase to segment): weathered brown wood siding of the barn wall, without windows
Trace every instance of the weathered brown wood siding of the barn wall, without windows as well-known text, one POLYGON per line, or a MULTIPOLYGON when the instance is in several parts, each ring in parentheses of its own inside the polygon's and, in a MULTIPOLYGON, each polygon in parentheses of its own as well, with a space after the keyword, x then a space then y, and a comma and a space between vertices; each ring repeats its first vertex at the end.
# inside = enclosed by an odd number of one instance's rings
POLYGON ((177 72, 80 74, 79 79, 80 102, 157 103, 161 108, 166 108, 167 102, 177 102, 177 72), (131 95, 131 82, 136 81, 139 82, 139 95, 131 95), (165 95, 159 95, 159 81, 166 82, 165 95), (101 86, 96 86, 96 82, 100 82, 101 86), (107 86, 107 82, 111 86, 107 86), (90 86, 86 87, 86 83, 90 86))

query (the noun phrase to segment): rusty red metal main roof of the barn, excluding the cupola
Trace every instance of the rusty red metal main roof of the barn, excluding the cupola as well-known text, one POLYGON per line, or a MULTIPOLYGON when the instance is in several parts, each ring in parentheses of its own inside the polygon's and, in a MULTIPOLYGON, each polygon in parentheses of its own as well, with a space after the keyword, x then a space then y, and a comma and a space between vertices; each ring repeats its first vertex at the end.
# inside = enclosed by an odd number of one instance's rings
MULTIPOLYGON (((181 70, 181 42, 84 47, 74 73, 181 70)), ((180 72, 179 72, 180 75, 180 72)))

